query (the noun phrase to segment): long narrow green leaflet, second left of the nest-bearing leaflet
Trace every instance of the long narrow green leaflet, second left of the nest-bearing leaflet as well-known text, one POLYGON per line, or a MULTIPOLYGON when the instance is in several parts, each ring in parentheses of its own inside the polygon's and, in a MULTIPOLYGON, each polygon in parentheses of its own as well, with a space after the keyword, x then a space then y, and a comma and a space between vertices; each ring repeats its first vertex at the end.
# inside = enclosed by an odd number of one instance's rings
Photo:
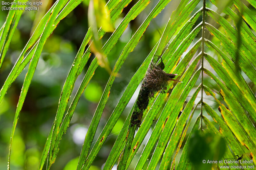
MULTIPOLYGON (((89 149, 90 149, 93 137, 94 137, 96 129, 97 129, 97 125, 99 124, 99 121, 100 121, 100 115, 102 114, 102 111, 103 111, 103 109, 104 109, 104 107, 106 105, 107 99, 108 99, 109 94, 110 94, 110 88, 111 88, 111 86, 112 86, 112 84, 114 82, 114 79, 115 79, 115 76, 116 76, 117 72, 121 68, 121 66, 124 63, 124 61, 125 61, 126 57, 128 56, 128 54, 130 52, 132 52, 132 50, 136 47, 136 45, 140 41, 140 38, 143 35, 143 33, 145 32, 146 28, 148 27, 148 24, 151 21, 151 19, 153 19, 154 16, 157 15, 165 7, 166 4, 168 4, 168 2, 166 2, 164 4, 160 4, 159 3, 159 4, 156 5, 156 7, 151 11, 151 13, 148 15, 146 20, 140 26, 140 28, 136 31, 136 33, 134 33, 134 35, 132 36, 131 40, 124 47, 124 50, 123 50, 122 54, 118 58, 118 60, 116 62, 116 66, 114 67, 114 70, 111 73, 111 76, 110 76, 110 78, 108 80, 108 84, 106 85, 106 88, 105 88, 105 90, 104 90, 104 92, 102 94, 101 100, 100 100, 99 105, 98 105, 98 107, 97 107, 97 109, 95 111, 95 114, 94 114, 94 116, 92 118, 92 122, 91 122, 91 124, 89 126, 87 135, 85 137, 83 148, 82 148, 81 155, 80 155, 80 159, 82 158, 82 160, 79 159, 79 163, 78 163, 78 167, 77 167, 78 169, 81 169, 82 165, 84 164, 84 162, 86 160, 85 158, 88 156, 89 149)), ((143 6, 145 8, 148 5, 148 2, 147 1, 142 1, 141 4, 140 4, 140 1, 139 1, 137 4, 135 4, 135 6, 130 11, 138 8, 139 5, 141 5, 141 6, 143 6)), ((141 10, 144 9, 144 8, 140 7, 141 10)), ((137 12, 138 12, 137 14, 133 12, 132 15, 136 16, 136 15, 139 14, 140 11, 137 10, 137 12)), ((126 19, 124 18, 123 21, 126 21, 126 19)), ((123 26, 123 23, 121 23, 119 26, 120 27, 123 26)), ((118 30, 118 28, 116 30, 118 30)), ((113 33, 113 35, 115 33, 116 33, 116 31, 113 33)), ((110 38, 110 40, 111 40, 111 38, 110 38)), ((108 45, 108 42, 104 45, 104 47, 106 47, 107 45, 108 45)), ((108 50, 108 48, 104 48, 104 47, 103 47, 103 51, 105 51, 105 49, 108 50)), ((107 53, 105 53, 105 54, 107 54, 107 53)), ((95 63, 95 67, 97 67, 97 65, 98 64, 95 63)), ((90 67, 89 67, 89 69, 90 69, 90 67)))

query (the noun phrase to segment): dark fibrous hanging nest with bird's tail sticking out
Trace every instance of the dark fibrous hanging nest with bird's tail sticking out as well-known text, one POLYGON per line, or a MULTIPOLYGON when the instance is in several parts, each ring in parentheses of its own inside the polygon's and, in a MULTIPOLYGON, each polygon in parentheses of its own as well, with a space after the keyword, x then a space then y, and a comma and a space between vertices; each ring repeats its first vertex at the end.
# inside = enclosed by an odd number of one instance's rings
MULTIPOLYGON (((143 111, 148 107, 149 99, 154 98, 156 92, 165 93, 167 91, 168 81, 174 80, 177 74, 168 74, 164 72, 164 63, 156 65, 150 63, 146 76, 143 79, 140 94, 138 96, 137 105, 140 112, 133 112, 131 123, 140 127, 143 111)), ((180 81, 178 81, 180 82, 180 81)))

